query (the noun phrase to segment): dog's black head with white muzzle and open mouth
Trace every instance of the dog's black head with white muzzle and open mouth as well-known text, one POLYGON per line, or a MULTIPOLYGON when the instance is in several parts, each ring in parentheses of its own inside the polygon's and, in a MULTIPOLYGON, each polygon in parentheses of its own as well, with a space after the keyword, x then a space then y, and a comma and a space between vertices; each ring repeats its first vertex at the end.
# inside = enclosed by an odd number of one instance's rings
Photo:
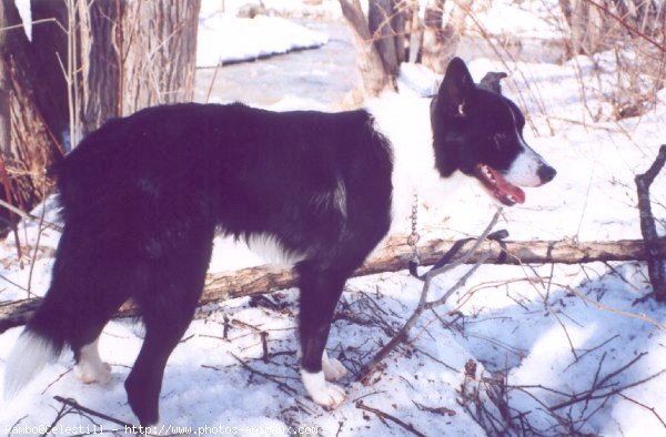
POLYGON ((474 176, 498 202, 525 202, 519 186, 539 186, 555 169, 523 139, 525 118, 518 106, 494 90, 476 85, 465 63, 455 58, 431 106, 435 162, 443 177, 460 170, 474 176))

